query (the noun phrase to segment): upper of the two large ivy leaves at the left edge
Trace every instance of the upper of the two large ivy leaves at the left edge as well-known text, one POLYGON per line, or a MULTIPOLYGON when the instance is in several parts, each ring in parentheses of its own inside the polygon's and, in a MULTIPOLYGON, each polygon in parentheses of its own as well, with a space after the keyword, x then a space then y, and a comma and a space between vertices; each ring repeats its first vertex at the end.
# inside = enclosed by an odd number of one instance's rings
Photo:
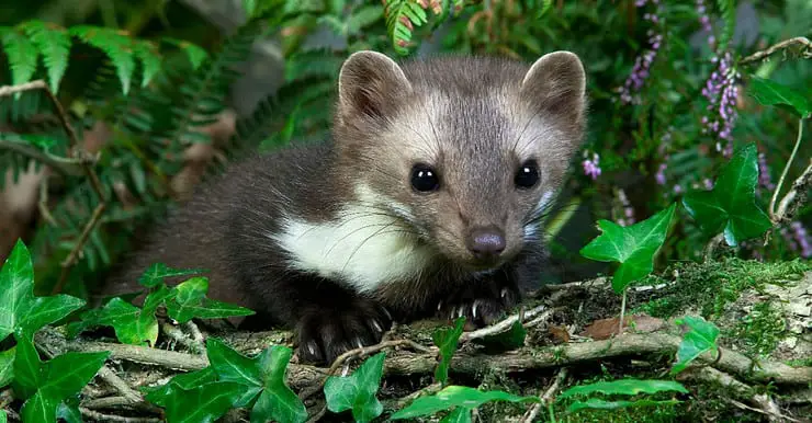
POLYGON ((0 270, 0 340, 20 329, 33 334, 84 306, 69 295, 34 296, 34 268, 31 253, 18 240, 0 270))

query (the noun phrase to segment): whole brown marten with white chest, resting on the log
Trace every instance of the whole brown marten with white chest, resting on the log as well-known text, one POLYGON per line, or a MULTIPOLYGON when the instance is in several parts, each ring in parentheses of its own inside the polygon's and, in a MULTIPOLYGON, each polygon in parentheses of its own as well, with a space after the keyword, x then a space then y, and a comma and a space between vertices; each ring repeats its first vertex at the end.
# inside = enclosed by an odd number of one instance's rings
POLYGON ((210 297, 295 329, 317 362, 380 341, 393 319, 487 323, 538 282, 539 220, 582 139, 584 91, 569 53, 532 67, 354 54, 334 139, 233 165, 105 294, 137 290, 155 262, 207 268, 210 297))

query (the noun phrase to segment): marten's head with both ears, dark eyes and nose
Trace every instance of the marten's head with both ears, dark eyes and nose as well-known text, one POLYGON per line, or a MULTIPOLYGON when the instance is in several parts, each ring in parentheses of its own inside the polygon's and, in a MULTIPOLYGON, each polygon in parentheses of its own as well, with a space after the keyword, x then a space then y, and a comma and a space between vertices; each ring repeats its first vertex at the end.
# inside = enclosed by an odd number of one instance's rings
POLYGON ((585 84, 568 52, 532 66, 356 53, 335 119, 346 181, 452 261, 498 266, 540 237, 583 138, 585 84))

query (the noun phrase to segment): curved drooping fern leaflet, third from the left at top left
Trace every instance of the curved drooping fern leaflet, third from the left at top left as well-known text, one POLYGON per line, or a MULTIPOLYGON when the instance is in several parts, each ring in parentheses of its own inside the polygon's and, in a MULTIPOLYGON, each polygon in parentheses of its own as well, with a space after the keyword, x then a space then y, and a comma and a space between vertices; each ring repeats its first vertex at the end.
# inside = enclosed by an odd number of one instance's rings
POLYGON ((70 28, 70 34, 104 52, 110 57, 119 73, 122 92, 126 95, 129 92, 129 84, 135 71, 133 39, 117 30, 89 25, 74 26, 70 28))

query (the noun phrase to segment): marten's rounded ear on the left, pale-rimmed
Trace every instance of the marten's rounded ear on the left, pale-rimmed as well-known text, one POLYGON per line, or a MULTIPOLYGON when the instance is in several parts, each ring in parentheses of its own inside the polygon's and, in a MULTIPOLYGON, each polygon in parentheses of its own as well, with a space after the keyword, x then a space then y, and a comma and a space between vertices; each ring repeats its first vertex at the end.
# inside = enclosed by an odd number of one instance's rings
POLYGON ((409 93, 411 83, 394 60, 377 52, 353 53, 338 76, 338 113, 345 122, 385 117, 409 93))

